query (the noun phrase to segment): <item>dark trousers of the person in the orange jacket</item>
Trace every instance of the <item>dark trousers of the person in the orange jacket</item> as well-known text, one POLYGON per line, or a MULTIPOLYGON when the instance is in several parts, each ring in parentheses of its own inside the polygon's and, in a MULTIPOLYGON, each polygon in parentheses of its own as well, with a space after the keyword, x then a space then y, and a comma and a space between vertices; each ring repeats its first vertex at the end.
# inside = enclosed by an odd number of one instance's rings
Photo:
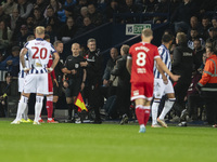
POLYGON ((217 124, 217 96, 204 97, 208 124, 217 124))

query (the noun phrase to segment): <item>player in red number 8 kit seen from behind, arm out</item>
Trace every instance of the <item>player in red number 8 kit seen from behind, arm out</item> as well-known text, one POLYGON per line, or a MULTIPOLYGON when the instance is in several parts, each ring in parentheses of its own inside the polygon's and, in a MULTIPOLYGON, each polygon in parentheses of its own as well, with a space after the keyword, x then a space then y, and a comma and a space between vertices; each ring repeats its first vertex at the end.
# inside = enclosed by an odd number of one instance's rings
POLYGON ((131 73, 131 100, 136 103, 136 114, 140 124, 139 133, 144 133, 153 96, 154 60, 158 68, 165 71, 174 81, 177 81, 179 76, 175 76, 169 71, 158 54, 157 46, 151 44, 153 39, 152 29, 142 30, 141 38, 142 42, 136 43, 129 49, 127 69, 131 73))

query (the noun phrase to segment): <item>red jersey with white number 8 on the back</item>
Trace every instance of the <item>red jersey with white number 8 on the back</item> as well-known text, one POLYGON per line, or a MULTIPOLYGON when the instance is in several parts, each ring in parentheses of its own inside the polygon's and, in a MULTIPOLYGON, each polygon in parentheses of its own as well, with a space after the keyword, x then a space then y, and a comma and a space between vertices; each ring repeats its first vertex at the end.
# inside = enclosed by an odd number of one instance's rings
POLYGON ((159 57, 157 46, 140 42, 129 49, 132 57, 130 82, 154 82, 154 58, 159 57))

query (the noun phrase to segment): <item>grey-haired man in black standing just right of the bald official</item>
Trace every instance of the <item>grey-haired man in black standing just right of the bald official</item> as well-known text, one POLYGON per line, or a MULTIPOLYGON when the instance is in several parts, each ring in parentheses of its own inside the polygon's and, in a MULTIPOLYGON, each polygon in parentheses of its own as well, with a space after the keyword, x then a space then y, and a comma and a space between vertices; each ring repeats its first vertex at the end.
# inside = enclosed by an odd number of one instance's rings
POLYGON ((100 85, 102 84, 102 55, 100 50, 97 49, 95 39, 90 38, 87 42, 87 80, 88 80, 88 104, 90 108, 94 109, 95 119, 94 123, 102 123, 100 117, 100 106, 102 95, 100 94, 100 85))

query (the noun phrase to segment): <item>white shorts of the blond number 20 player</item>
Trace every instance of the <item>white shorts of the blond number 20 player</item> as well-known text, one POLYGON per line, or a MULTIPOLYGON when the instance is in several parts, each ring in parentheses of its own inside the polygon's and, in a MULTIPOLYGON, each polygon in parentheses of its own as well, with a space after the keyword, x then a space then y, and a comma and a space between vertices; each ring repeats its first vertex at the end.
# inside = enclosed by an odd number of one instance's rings
POLYGON ((48 95, 48 73, 29 73, 25 78, 24 93, 48 95))

